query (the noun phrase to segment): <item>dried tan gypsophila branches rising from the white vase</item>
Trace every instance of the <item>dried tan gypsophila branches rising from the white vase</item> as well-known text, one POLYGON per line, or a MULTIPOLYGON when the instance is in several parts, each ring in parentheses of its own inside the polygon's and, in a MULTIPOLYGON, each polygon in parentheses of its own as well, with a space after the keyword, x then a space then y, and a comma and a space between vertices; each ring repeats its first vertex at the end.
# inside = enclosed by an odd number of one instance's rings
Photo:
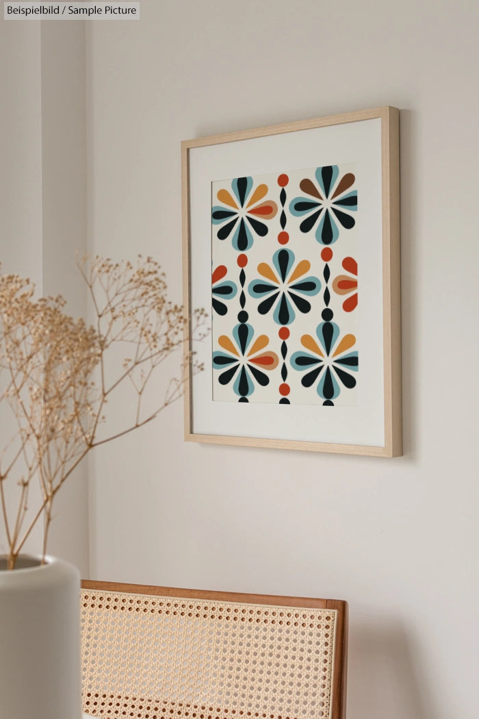
MULTIPOLYGON (((65 314, 60 296, 35 299, 29 280, 0 275, 0 404, 9 408, 16 426, 0 453, 9 568, 42 517, 45 556, 53 500, 93 447, 138 429, 180 398, 184 372, 169 381, 157 406, 143 411, 145 390, 162 362, 181 350, 190 372, 203 369, 185 353, 184 309, 168 300, 165 275, 151 257, 139 257, 136 267, 84 257, 78 266, 93 304, 94 327, 65 314), (125 383, 136 394, 134 417, 113 434, 100 435, 108 399, 125 383), (19 498, 9 513, 5 485, 14 475, 19 498), (41 501, 29 516, 35 479, 41 501)), ((196 339, 208 334, 206 319, 203 310, 192 313, 196 339)))

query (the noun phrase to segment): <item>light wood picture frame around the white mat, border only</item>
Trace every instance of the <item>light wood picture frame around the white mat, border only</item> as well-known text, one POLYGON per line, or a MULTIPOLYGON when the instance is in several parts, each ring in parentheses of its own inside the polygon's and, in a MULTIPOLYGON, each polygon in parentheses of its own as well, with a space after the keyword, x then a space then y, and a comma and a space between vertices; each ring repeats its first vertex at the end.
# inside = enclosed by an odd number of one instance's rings
MULTIPOLYGON (((296 449, 305 452, 358 454, 371 457, 396 457, 402 454, 401 411, 401 285, 399 250, 399 110, 394 107, 361 110, 322 118, 288 122, 257 129, 216 134, 182 142, 182 232, 183 298, 187 308, 186 335, 190 326, 190 173, 189 152, 196 147, 220 145, 269 135, 331 125, 381 119, 381 183, 383 225, 383 372, 384 372, 384 444, 339 444, 320 441, 269 439, 264 437, 197 434, 192 426, 190 380, 185 391, 185 440, 206 444, 257 446, 271 449, 296 449)), ((186 344, 186 343, 185 343, 186 344)))

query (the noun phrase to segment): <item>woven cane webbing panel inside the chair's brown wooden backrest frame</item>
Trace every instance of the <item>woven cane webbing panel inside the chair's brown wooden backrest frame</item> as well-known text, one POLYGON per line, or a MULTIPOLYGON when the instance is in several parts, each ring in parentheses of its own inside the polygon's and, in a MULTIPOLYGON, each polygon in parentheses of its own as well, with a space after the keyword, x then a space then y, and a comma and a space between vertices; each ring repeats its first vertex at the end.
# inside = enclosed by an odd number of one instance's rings
POLYGON ((336 611, 82 590, 83 711, 330 719, 336 611))

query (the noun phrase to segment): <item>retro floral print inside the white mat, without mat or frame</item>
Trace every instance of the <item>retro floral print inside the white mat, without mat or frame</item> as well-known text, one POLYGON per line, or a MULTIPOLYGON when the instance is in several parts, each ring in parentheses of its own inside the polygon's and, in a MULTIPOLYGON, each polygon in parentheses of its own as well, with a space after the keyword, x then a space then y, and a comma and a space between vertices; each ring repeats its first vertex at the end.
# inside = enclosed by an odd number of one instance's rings
POLYGON ((354 173, 212 183, 213 400, 355 405, 354 173))

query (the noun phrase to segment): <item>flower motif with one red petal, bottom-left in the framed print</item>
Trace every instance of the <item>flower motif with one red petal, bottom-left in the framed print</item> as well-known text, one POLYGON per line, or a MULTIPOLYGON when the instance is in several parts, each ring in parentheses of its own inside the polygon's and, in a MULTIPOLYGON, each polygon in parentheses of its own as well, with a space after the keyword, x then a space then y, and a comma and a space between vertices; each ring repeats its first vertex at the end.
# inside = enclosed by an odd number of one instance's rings
POLYGON ((250 324, 237 324, 233 329, 233 340, 222 334, 218 344, 223 351, 213 352, 213 367, 222 370, 218 377, 220 385, 228 385, 237 375, 233 390, 240 398, 254 392, 255 382, 262 387, 269 385, 264 370, 274 370, 279 363, 275 352, 264 352, 269 344, 266 334, 260 334, 254 342, 253 337, 254 329, 250 324))

